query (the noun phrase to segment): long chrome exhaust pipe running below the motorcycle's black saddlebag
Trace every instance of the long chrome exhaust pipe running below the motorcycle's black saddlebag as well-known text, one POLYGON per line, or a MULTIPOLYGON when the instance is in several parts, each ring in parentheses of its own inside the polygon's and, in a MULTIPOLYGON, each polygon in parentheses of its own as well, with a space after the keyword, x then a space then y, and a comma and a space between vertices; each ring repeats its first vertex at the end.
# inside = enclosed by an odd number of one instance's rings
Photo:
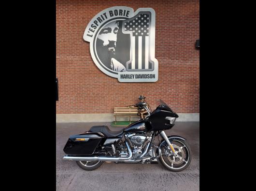
POLYGON ((126 160, 130 160, 132 157, 132 153, 130 150, 130 147, 128 145, 128 142, 126 141, 126 146, 128 148, 128 157, 110 157, 110 156, 69 156, 65 155, 63 157, 64 160, 70 160, 70 161, 110 161, 110 162, 123 162, 126 160))

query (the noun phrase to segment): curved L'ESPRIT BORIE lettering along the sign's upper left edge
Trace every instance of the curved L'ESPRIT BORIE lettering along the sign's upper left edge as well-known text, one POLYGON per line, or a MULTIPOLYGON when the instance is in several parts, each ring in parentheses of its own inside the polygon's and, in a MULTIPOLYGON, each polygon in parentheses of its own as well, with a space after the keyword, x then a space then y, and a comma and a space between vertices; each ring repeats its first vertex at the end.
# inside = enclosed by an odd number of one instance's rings
MULTIPOLYGON (((109 11, 108 13, 109 13, 110 17, 113 17, 113 16, 125 16, 125 17, 128 17, 130 11, 122 10, 122 9, 119 9, 119 10, 115 9, 114 11, 109 11)), ((94 24, 91 24, 91 28, 88 29, 87 36, 92 37, 91 33, 94 33, 95 29, 99 26, 99 24, 102 23, 106 19, 108 19, 107 13, 100 14, 100 16, 97 17, 96 20, 93 21, 94 24)))

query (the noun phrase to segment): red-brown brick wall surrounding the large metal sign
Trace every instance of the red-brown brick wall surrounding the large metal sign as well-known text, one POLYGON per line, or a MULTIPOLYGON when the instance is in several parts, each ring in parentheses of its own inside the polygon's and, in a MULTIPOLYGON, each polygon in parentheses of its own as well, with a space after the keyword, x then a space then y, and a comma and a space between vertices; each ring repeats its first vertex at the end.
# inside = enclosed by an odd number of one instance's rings
POLYGON ((199 0, 57 0, 56 31, 57 114, 113 113, 138 102, 139 95, 153 108, 162 99, 176 113, 199 113, 199 0), (120 83, 94 64, 85 27, 114 6, 156 11, 157 82, 120 83))

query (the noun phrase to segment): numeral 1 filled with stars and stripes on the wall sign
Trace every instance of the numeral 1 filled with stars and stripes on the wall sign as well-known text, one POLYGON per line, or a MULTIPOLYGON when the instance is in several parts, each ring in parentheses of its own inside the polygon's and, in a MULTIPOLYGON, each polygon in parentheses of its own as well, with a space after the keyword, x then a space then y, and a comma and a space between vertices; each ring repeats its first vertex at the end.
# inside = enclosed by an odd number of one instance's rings
POLYGON ((128 64, 128 69, 152 69, 152 63, 149 62, 149 24, 149 13, 139 13, 124 24, 125 31, 132 31, 132 62, 128 64))

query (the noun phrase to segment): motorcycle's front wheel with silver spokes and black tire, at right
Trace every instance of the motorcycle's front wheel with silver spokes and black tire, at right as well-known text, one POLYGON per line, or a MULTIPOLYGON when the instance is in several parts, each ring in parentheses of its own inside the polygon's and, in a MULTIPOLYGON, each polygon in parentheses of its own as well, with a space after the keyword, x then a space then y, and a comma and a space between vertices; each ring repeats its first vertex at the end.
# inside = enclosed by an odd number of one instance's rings
POLYGON ((185 140, 170 140, 178 156, 175 157, 167 144, 161 146, 160 163, 168 170, 178 172, 184 170, 191 162, 191 150, 185 140))

